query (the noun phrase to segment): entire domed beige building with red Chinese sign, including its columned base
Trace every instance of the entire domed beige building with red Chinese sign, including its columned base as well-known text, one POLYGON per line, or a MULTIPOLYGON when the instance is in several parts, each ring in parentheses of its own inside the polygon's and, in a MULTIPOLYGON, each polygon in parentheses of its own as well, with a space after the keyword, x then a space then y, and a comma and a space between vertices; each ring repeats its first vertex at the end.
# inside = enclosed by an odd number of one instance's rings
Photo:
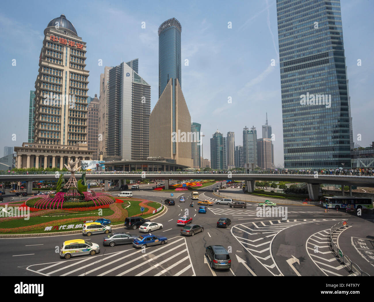
POLYGON ((65 15, 44 30, 35 81, 33 143, 14 147, 16 167, 58 167, 92 160, 88 150, 86 43, 65 15))

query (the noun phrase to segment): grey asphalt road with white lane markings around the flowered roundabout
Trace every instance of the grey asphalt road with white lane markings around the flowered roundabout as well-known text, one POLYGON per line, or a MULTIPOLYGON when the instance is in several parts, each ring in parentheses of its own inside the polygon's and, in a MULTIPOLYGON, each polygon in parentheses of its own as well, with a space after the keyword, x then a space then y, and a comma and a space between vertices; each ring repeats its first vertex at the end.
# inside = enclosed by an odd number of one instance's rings
MULTIPOLYGON (((199 189, 200 194, 204 194, 200 196, 215 200, 217 196, 211 192, 213 186, 199 189)), ((239 192, 240 189, 237 190, 239 192)), ((157 202, 170 196, 169 192, 155 192, 151 187, 141 191, 134 190, 133 193, 133 198, 157 202)), ((111 194, 117 195, 118 192, 111 194)), ((350 232, 353 234, 354 225, 360 226, 358 237, 372 235, 373 220, 370 215, 357 217, 343 211, 325 213, 318 206, 289 206, 288 217, 283 220, 281 217, 257 217, 255 203, 247 203, 246 209, 230 209, 227 205, 214 204, 208 206, 206 214, 199 214, 197 201, 194 201, 194 208, 189 207, 190 191, 187 194, 175 192, 173 198, 175 206, 166 206, 165 213, 154 219, 155 222, 162 223, 163 228, 152 234, 168 238, 168 243, 163 246, 147 247, 145 253, 131 244, 104 247, 104 234, 91 237, 73 234, 0 239, 0 275, 349 275, 344 268, 340 268, 331 252, 325 252, 327 237, 324 236, 324 231, 346 220, 352 225, 350 232), (182 195, 186 198, 185 203, 179 201, 182 195), (181 236, 182 227, 177 226, 176 221, 183 215, 191 216, 192 223, 202 225, 204 231, 193 237, 181 236), (217 220, 221 217, 232 220, 229 228, 216 227, 217 220), (101 252, 95 256, 60 259, 59 247, 65 240, 75 238, 98 243, 101 252), (205 248, 211 244, 223 245, 229 250, 231 269, 220 271, 210 268, 204 254, 205 248), (320 250, 318 253, 315 252, 316 246, 320 250)), ((113 231, 142 234, 138 229, 129 230, 124 227, 113 231)), ((340 240, 343 238, 341 245, 349 245, 347 241, 350 237, 340 237, 340 240)), ((361 256, 356 253, 352 257, 361 256)), ((374 275, 374 266, 368 266, 367 272, 374 275)))

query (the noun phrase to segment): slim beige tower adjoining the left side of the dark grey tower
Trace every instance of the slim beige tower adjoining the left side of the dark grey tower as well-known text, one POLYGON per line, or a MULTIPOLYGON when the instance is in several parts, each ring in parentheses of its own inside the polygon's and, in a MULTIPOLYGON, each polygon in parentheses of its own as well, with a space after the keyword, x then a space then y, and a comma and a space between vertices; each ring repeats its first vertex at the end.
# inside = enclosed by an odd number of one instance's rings
POLYGON ((104 73, 100 74, 99 96, 99 156, 107 157, 108 151, 108 104, 109 104, 109 70, 113 67, 105 66, 104 73))

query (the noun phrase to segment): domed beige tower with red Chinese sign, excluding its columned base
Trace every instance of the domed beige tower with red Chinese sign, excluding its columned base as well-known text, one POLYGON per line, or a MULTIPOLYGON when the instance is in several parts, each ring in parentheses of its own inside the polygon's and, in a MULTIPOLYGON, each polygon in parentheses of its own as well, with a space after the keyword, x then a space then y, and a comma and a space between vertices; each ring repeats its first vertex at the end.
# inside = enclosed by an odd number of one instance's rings
POLYGON ((35 81, 34 142, 87 143, 86 43, 61 15, 44 30, 35 81))

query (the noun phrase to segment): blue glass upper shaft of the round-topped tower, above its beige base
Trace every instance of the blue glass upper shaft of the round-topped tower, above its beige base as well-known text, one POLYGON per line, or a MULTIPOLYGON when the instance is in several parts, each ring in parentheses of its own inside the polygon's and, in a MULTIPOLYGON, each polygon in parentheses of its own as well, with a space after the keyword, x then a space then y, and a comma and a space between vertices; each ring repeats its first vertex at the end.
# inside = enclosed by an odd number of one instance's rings
POLYGON ((175 18, 159 27, 159 97, 171 78, 173 82, 177 78, 182 87, 181 32, 181 24, 175 18))

